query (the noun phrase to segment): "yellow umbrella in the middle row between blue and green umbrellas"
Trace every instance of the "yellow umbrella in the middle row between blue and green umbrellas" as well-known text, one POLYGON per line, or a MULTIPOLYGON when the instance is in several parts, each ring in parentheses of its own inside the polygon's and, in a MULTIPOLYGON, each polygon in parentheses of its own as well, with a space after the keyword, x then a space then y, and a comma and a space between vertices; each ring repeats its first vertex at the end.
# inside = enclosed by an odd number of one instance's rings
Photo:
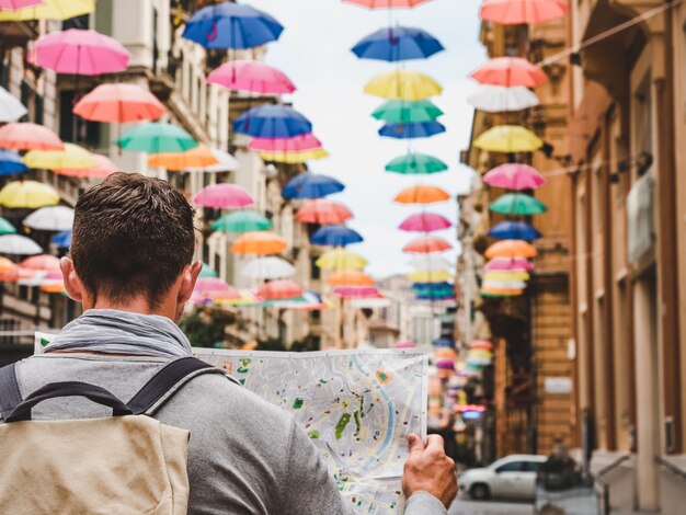
POLYGON ((427 75, 409 70, 380 73, 365 85, 365 93, 387 100, 418 101, 442 91, 441 84, 427 75))

